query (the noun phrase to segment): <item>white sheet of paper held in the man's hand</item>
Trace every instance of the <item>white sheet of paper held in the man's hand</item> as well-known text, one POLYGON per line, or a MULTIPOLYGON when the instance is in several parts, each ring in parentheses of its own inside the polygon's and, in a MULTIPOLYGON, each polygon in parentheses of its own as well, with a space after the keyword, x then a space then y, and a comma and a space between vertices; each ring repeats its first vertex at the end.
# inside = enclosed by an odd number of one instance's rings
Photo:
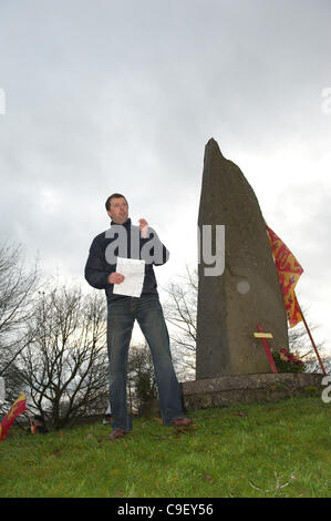
POLYGON ((145 277, 145 260, 117 257, 116 272, 124 275, 125 278, 123 283, 114 284, 113 293, 116 295, 139 297, 145 277))

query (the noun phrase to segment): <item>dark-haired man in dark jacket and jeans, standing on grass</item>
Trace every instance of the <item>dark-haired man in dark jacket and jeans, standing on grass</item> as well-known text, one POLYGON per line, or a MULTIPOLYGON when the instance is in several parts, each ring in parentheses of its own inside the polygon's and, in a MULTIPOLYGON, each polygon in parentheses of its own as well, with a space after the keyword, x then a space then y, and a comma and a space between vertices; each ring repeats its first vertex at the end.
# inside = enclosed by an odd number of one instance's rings
POLYGON ((121 438, 132 430, 126 405, 126 364, 135 319, 152 353, 163 422, 167 426, 188 426, 192 420, 183 413, 180 388, 172 361, 169 336, 153 269, 153 264, 165 264, 169 253, 154 229, 148 228, 145 219, 139 219, 139 226, 132 225, 127 201, 123 195, 111 195, 105 206, 112 218, 111 228, 93 239, 85 278, 91 286, 105 289, 107 298, 110 401, 113 417, 110 439, 121 438), (121 295, 121 284, 125 277, 116 272, 117 257, 145 262, 138 297, 121 295))

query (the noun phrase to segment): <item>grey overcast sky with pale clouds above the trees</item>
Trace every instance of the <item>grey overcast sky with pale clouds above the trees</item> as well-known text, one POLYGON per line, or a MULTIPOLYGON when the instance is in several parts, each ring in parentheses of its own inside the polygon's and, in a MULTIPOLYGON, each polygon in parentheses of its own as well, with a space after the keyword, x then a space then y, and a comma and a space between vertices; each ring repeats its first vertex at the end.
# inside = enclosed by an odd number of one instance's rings
POLYGON ((170 251, 166 285, 197 263, 213 136, 302 265, 329 346, 330 29, 330 0, 1 0, 2 239, 84 286, 121 192, 170 251))

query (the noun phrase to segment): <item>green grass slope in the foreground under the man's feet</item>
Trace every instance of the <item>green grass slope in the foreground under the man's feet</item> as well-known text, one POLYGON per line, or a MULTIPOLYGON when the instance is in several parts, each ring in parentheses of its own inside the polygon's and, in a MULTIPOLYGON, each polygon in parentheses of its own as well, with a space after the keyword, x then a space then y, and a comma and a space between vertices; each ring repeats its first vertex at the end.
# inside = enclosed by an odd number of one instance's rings
POLYGON ((115 442, 103 425, 45 436, 10 432, 0 443, 0 497, 330 497, 331 406, 321 399, 190 417, 195 427, 187 430, 136 418, 134 430, 115 442))

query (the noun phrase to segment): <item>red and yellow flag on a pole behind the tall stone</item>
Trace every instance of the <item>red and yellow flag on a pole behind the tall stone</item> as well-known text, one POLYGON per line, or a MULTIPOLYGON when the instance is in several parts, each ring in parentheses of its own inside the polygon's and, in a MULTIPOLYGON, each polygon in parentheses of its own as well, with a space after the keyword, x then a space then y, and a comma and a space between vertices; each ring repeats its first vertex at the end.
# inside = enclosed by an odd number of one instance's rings
POLYGON ((302 320, 300 306, 296 296, 296 285, 303 273, 302 267, 289 251, 287 245, 267 226, 270 246, 281 284, 285 307, 290 327, 297 326, 302 320))

